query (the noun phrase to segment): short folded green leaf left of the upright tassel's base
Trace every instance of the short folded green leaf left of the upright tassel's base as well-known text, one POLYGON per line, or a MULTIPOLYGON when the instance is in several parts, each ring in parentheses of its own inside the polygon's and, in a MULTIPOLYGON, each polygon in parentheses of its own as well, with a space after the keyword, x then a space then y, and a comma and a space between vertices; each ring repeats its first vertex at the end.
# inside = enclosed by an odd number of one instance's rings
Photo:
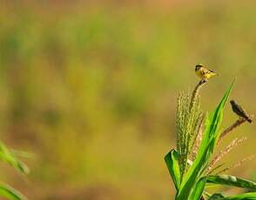
POLYGON ((180 185, 180 171, 179 171, 179 153, 176 150, 171 150, 165 156, 165 163, 172 177, 172 181, 176 190, 179 190, 180 185))

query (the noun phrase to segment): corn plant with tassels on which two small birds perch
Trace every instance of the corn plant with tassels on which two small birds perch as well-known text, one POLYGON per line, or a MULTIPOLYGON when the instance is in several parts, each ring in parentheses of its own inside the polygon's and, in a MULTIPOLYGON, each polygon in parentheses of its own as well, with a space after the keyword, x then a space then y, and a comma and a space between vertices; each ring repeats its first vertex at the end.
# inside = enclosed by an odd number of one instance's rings
MULTIPOLYGON (((165 156, 165 163, 176 189, 176 200, 222 200, 222 199, 256 199, 256 183, 243 178, 226 175, 227 170, 239 166, 244 160, 226 167, 219 160, 236 145, 246 138, 236 138, 224 150, 214 157, 214 151, 222 138, 229 132, 245 123, 246 119, 239 118, 223 132, 220 125, 224 108, 230 96, 232 85, 226 90, 224 97, 215 110, 206 115, 200 109, 199 90, 205 85, 200 81, 192 95, 180 93, 177 106, 177 149, 171 150, 165 156), (219 163, 219 164, 217 164, 219 163), (252 192, 225 197, 224 194, 209 194, 205 187, 208 185, 225 185, 239 187, 252 192)), ((251 157, 250 157, 251 158, 251 157)))

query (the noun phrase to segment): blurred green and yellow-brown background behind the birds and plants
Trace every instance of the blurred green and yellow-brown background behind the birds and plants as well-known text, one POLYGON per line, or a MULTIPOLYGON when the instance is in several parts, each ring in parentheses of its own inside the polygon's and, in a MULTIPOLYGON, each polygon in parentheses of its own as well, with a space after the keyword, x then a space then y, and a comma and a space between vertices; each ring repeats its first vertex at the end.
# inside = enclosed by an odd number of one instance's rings
MULTIPOLYGON (((28 177, 1 165, 1 180, 33 200, 172 199, 164 156, 195 63, 219 72, 205 111, 237 77, 256 114, 255 18, 255 1, 1 1, 0 136, 34 154, 28 177)), ((227 106, 223 128, 235 119, 227 106)), ((226 137, 248 137, 227 165, 255 153, 255 128, 226 137)), ((255 180, 255 161, 231 173, 255 180)))

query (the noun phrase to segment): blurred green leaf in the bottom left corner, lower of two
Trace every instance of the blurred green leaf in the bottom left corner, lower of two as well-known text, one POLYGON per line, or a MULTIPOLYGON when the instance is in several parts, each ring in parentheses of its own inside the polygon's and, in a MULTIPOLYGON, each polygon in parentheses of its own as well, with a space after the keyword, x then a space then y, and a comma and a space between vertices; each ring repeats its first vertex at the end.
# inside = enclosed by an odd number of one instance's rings
POLYGON ((26 200, 20 192, 3 183, 0 184, 0 196, 10 200, 26 200))

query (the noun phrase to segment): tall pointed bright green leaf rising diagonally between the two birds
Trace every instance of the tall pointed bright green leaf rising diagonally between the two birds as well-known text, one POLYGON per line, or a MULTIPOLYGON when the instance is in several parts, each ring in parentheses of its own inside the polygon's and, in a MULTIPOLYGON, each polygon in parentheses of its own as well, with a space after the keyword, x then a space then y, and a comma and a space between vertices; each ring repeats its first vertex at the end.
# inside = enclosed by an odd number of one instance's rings
POLYGON ((185 178, 183 179, 177 199, 184 200, 188 199, 192 188, 199 180, 201 174, 205 170, 207 163, 212 156, 213 150, 216 146, 216 143, 219 139, 219 125, 222 121, 223 110, 226 104, 226 101, 230 95, 234 82, 226 90, 224 97, 221 99, 218 107, 214 110, 206 120, 205 123, 205 133, 202 140, 202 143, 199 146, 199 153, 192 164, 192 167, 185 174, 185 178))

